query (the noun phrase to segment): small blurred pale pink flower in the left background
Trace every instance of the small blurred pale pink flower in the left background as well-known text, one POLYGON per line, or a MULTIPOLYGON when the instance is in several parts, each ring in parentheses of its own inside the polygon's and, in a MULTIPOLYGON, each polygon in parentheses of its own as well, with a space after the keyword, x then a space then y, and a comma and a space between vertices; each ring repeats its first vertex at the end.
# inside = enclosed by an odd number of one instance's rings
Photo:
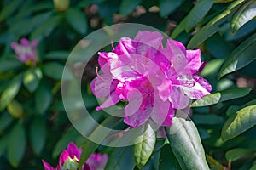
POLYGON ((38 40, 29 42, 26 38, 21 38, 20 44, 12 42, 11 47, 15 50, 17 58, 26 65, 36 65, 37 63, 38 40))

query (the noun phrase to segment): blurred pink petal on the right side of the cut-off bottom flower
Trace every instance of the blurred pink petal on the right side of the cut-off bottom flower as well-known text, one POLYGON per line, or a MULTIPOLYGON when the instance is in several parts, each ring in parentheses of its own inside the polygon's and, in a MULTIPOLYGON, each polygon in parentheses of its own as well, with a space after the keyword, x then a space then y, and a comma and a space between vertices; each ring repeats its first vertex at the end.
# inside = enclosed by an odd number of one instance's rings
POLYGON ((108 155, 107 154, 92 154, 86 164, 90 167, 90 170, 102 170, 105 169, 108 162, 108 155))

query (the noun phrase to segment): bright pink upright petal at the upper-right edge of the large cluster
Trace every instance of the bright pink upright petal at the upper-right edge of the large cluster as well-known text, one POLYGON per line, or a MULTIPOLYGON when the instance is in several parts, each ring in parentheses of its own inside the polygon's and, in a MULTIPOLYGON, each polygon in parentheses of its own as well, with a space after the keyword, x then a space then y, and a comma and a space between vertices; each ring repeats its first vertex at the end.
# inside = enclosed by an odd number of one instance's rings
POLYGON ((192 74, 195 74, 195 72, 201 67, 201 50, 187 50, 187 59, 187 67, 190 69, 192 74))

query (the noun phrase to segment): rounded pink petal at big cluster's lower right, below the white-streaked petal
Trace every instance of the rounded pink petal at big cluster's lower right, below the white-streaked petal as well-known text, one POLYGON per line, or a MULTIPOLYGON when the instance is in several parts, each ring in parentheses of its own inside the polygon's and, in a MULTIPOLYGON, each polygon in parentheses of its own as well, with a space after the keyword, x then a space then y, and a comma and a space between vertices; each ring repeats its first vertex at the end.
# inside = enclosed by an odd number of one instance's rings
POLYGON ((172 94, 169 97, 174 109, 184 109, 189 105, 189 97, 184 95, 181 88, 172 87, 172 94))

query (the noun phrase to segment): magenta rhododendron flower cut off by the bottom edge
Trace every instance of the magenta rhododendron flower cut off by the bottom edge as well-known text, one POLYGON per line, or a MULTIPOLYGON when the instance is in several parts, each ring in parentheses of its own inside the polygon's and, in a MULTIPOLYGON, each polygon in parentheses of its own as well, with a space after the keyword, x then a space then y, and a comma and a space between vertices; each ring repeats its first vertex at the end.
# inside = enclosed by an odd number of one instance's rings
MULTIPOLYGON (((49 163, 43 161, 44 170, 77 170, 79 169, 79 159, 82 150, 79 149, 73 142, 69 143, 67 150, 63 150, 59 158, 59 164, 56 168, 51 167, 49 163)), ((106 167, 108 162, 107 154, 92 154, 84 163, 83 170, 102 170, 106 167)))

